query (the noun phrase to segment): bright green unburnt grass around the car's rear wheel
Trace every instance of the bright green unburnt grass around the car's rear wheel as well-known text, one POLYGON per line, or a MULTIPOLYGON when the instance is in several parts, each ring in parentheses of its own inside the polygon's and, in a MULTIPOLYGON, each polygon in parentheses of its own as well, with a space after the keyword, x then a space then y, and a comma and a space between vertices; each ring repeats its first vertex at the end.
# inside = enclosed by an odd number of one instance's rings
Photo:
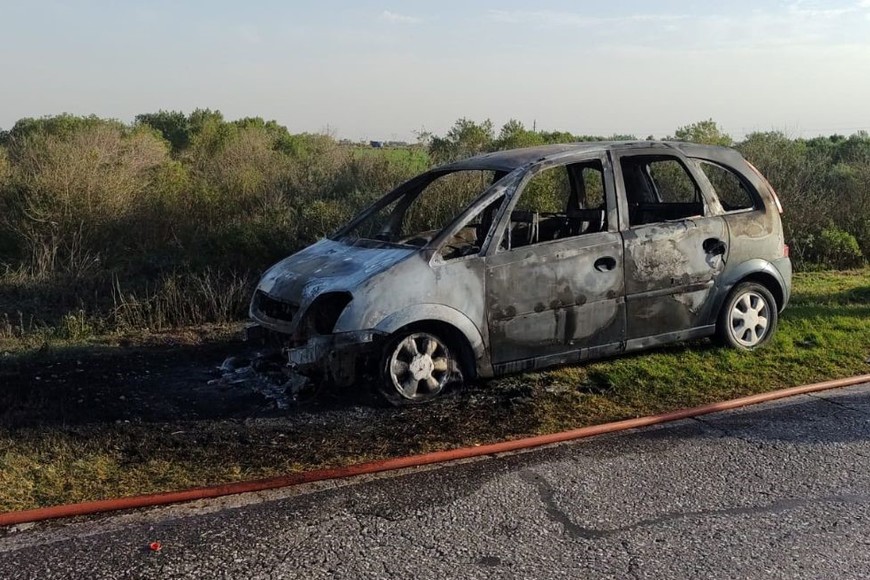
POLYGON ((711 341, 511 377, 547 395, 542 432, 572 418, 601 422, 670 411, 777 388, 870 373, 870 270, 799 273, 765 348, 742 352, 711 341))

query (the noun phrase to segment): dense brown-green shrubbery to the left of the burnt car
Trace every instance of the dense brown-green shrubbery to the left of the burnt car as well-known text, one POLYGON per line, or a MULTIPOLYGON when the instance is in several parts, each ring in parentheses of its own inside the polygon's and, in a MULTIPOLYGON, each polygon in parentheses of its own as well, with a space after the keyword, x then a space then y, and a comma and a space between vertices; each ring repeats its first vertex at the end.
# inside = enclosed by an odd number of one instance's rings
POLYGON ((208 110, 24 119, 0 137, 0 312, 27 323, 4 327, 238 318, 263 268, 426 165, 208 110))

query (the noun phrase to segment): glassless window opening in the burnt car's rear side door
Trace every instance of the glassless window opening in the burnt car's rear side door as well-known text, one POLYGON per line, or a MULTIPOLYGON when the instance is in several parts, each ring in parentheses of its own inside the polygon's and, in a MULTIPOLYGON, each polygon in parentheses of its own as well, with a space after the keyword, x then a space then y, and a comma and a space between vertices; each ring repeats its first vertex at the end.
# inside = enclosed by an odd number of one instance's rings
POLYGON ((704 215, 701 189, 676 158, 630 156, 620 166, 630 226, 704 215))

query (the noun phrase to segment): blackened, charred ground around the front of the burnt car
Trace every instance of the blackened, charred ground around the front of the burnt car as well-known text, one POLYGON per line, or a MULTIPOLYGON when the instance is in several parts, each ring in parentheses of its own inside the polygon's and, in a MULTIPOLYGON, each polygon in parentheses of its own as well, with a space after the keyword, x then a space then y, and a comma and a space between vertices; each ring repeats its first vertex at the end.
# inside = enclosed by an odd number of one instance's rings
MULTIPOLYGON (((241 340, 226 340, 0 356, 0 428, 256 419, 295 423, 312 417, 320 417, 317 422, 322 423, 345 415, 386 418, 415 413, 415 408, 387 406, 364 383, 342 390, 320 388, 301 403, 285 398, 282 404, 263 393, 265 379, 221 380, 232 377, 221 369, 228 357, 250 360, 257 352, 241 340)), ((441 405, 423 408, 437 412, 439 406, 482 403, 481 397, 492 403, 492 397, 521 395, 485 394, 479 385, 470 386, 449 394, 441 405)))

